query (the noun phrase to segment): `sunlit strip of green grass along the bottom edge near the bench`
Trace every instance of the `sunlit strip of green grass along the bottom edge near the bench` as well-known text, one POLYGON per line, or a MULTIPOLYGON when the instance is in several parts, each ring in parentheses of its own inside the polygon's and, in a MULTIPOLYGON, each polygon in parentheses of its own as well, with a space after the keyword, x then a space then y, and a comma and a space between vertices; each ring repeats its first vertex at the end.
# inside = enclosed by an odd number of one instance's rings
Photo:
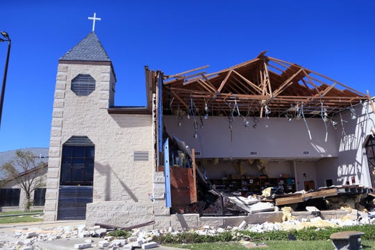
MULTIPOLYGON (((255 247, 253 249, 277 249, 277 250, 330 250, 335 249, 331 240, 269 240, 264 242, 267 245, 267 248, 264 247, 255 247)), ((167 244, 168 247, 178 247, 182 249, 199 249, 199 250, 244 250, 248 249, 247 247, 242 246, 238 242, 215 242, 215 243, 195 243, 195 244, 167 244)), ((375 241, 372 240, 363 240, 362 242, 363 249, 375 249, 375 241)))

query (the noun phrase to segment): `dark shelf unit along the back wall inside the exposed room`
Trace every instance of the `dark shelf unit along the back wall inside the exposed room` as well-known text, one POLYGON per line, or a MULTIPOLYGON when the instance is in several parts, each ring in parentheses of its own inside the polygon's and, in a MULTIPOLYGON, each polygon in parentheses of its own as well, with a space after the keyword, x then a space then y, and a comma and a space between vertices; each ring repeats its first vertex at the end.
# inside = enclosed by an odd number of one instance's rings
POLYGON ((296 192, 294 178, 221 178, 210 179, 220 192, 241 192, 243 196, 261 194, 265 188, 280 188, 285 193, 296 192))

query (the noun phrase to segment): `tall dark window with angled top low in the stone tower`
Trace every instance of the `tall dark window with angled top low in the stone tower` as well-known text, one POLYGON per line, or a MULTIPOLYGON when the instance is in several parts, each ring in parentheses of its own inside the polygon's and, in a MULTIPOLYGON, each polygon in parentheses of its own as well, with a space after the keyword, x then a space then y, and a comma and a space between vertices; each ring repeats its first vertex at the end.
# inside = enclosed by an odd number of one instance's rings
POLYGON ((95 146, 87 136, 72 136, 63 144, 60 185, 92 185, 95 146))

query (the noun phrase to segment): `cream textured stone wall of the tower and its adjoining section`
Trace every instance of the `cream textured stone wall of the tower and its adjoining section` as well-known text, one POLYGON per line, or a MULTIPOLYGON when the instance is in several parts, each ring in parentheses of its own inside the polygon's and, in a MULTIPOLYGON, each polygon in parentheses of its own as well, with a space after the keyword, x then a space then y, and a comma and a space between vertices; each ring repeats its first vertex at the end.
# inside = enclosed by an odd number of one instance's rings
MULTIPOLYGON (((153 118, 151 115, 108 114, 108 107, 114 103, 114 86, 115 76, 110 64, 58 65, 44 219, 57 219, 61 151, 73 135, 85 135, 95 145, 93 203, 89 206, 88 219, 115 215, 97 215, 95 204, 99 206, 103 201, 121 201, 132 203, 134 208, 151 209, 155 158, 153 118), (88 96, 78 97, 71 90, 72 79, 78 74, 90 74, 96 81, 94 92, 88 96), (134 151, 146 151, 148 160, 135 161, 134 151)), ((111 203, 108 207, 113 208, 111 203)), ((126 224, 129 216, 133 217, 131 213, 121 216, 123 222, 120 223, 126 224)))

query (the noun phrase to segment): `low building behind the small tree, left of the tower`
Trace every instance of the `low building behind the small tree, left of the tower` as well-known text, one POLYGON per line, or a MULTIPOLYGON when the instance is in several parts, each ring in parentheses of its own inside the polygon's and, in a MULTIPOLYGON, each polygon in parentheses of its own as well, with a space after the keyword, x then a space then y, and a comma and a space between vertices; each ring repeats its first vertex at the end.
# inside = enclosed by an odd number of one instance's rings
MULTIPOLYGON (((49 149, 27 148, 21 150, 33 153, 35 156, 35 165, 44 165, 42 172, 38 173, 38 177, 40 176, 47 180, 46 174, 49 149)), ((15 160, 15 152, 16 150, 0 152, 0 166, 15 160)), ((30 171, 25 173, 19 168, 19 175, 24 176, 25 174, 33 174, 33 171, 33 169, 30 169, 30 171)), ((6 178, 3 172, 0 172, 0 175, 0 211, 7 212, 24 210, 24 204, 26 202, 26 194, 24 190, 22 190, 14 179, 6 178)), ((32 192, 31 200, 33 201, 33 206, 31 207, 31 210, 43 210, 45 194, 45 187, 37 188, 32 192)))

